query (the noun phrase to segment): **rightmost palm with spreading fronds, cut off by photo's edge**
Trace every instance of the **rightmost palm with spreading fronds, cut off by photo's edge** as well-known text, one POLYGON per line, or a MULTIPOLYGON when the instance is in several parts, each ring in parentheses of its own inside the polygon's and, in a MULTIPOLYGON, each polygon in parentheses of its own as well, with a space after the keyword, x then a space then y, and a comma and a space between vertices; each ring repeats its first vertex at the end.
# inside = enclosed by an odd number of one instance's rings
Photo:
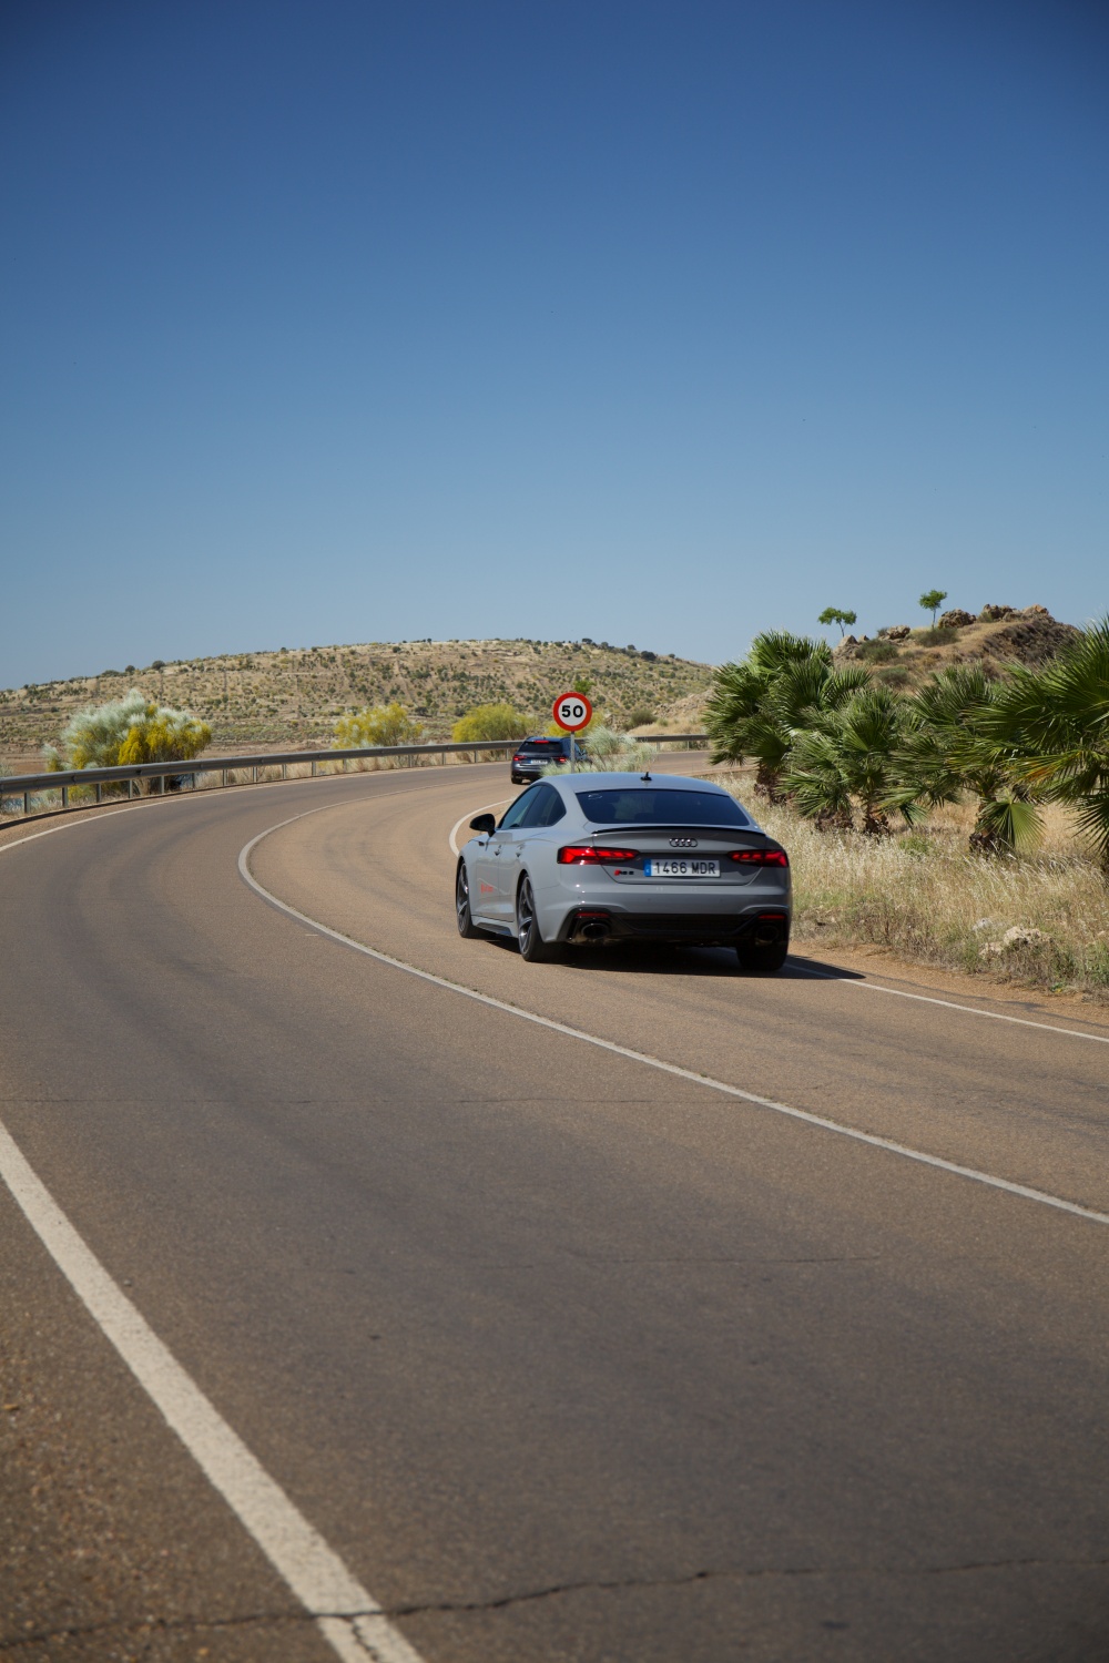
POLYGON ((1109 617, 1042 670, 1014 670, 988 727, 1019 755, 1029 788, 1077 810, 1109 876, 1109 617))

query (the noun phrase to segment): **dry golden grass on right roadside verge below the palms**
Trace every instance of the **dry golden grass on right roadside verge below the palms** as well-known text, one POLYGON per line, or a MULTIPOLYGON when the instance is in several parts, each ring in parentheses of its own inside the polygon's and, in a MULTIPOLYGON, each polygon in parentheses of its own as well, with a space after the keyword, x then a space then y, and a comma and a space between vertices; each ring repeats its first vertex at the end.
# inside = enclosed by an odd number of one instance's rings
POLYGON ((991 860, 968 853, 969 807, 936 810, 914 832, 866 838, 816 832, 790 808, 753 798, 747 770, 715 778, 788 848, 796 941, 873 943, 921 963, 1109 1003, 1109 885, 1061 808, 1046 810, 1034 856, 991 860), (1046 940, 991 951, 1013 928, 1046 940))

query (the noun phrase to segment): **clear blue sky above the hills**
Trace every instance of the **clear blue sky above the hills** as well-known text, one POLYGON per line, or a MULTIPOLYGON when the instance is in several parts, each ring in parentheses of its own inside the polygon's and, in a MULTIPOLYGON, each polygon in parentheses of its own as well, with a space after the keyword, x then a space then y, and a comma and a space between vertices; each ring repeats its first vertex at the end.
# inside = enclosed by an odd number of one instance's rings
POLYGON ((7 0, 0 683, 1109 609, 1109 8, 7 0))

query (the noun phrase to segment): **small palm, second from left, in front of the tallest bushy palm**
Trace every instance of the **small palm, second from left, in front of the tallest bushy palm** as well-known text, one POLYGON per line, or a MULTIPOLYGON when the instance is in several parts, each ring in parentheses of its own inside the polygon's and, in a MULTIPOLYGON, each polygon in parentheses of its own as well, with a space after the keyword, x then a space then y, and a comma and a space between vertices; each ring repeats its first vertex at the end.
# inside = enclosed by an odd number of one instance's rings
POLYGON ((798 812, 821 828, 848 830, 858 803, 870 836, 890 832, 893 810, 913 825, 923 790, 901 772, 900 752, 914 720, 909 702, 888 687, 861 688, 820 713, 796 735, 781 777, 798 812))

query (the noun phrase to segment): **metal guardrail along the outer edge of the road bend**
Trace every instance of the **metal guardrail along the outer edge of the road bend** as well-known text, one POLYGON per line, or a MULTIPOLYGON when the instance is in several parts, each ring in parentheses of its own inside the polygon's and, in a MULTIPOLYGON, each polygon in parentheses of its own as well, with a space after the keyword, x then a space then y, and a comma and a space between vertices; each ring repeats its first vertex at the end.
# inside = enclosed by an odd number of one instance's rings
MULTIPOLYGON (((700 747, 708 742, 707 733, 652 733, 647 740, 650 745, 693 745, 700 747)), ((412 757, 429 757, 439 758, 446 763, 449 755, 472 755, 477 762, 482 752, 512 752, 520 743, 519 738, 487 738, 487 740, 466 740, 464 743, 447 743, 447 745, 364 745, 354 750, 276 750, 264 752, 254 757, 195 757, 190 762, 136 762, 121 768, 62 768, 48 773, 12 773, 0 775, 0 808, 7 813, 7 803, 12 798, 23 798, 23 817, 33 820, 42 813, 57 813, 57 807, 50 808, 32 808, 30 800, 42 792, 60 792, 62 808, 70 807, 70 792, 78 787, 81 790, 93 788, 93 802, 101 803, 105 800, 105 785, 126 785, 126 795, 135 797, 135 787, 141 780, 158 780, 160 793, 166 790, 166 780, 186 782, 186 788, 195 788, 196 777, 201 773, 219 773, 223 775, 219 785, 234 783, 258 783, 258 773, 261 768, 281 768, 281 778, 288 780, 289 768, 303 768, 306 763, 311 767, 311 777, 319 775, 319 765, 328 762, 341 762, 343 773, 346 773, 347 762, 364 762, 371 757, 396 757, 412 758, 412 757), (233 773, 251 773, 249 782, 234 782, 229 778, 233 773)), ((331 770, 328 770, 331 772, 331 770)), ((141 790, 140 793, 141 795, 141 790)), ((81 803, 81 807, 86 807, 81 803)), ((17 812, 18 813, 18 812, 17 812)))

